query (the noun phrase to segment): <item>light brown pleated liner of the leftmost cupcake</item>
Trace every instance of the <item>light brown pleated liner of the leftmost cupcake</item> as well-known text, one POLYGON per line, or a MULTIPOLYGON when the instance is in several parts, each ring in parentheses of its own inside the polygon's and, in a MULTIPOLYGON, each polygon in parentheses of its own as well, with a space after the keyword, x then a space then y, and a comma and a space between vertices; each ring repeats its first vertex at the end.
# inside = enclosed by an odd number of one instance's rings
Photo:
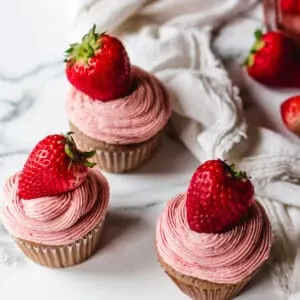
POLYGON ((75 266, 87 260, 97 249, 104 220, 83 238, 65 246, 47 246, 15 238, 23 253, 35 263, 49 268, 75 266))

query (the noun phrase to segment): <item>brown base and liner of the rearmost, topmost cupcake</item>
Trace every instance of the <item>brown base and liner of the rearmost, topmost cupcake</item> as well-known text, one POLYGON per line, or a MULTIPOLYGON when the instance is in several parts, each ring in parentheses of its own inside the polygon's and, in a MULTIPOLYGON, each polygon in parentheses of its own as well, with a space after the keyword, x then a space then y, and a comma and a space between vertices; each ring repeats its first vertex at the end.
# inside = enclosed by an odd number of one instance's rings
POLYGON ((96 150, 96 155, 90 161, 96 162, 100 169, 111 173, 124 173, 141 167, 154 155, 161 140, 160 132, 145 142, 113 145, 86 136, 72 123, 70 128, 74 132, 77 147, 81 151, 96 150))

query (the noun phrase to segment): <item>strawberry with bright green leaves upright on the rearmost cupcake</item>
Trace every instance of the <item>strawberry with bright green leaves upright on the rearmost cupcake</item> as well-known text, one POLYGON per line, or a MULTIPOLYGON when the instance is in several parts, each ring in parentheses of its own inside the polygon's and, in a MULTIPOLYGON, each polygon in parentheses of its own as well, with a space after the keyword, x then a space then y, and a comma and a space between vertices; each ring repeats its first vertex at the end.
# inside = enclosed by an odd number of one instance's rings
POLYGON ((131 65, 123 44, 115 37, 95 32, 96 26, 66 51, 70 83, 94 100, 124 97, 131 90, 131 65))

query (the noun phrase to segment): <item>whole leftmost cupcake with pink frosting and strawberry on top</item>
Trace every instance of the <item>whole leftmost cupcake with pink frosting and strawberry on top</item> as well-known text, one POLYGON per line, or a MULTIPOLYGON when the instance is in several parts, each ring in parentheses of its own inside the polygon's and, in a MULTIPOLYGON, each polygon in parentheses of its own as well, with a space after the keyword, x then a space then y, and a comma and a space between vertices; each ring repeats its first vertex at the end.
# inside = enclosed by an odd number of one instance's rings
POLYGON ((70 134, 49 135, 35 146, 23 170, 6 181, 2 221, 32 261, 70 267, 97 249, 109 188, 103 175, 90 169, 93 154, 77 150, 70 134))

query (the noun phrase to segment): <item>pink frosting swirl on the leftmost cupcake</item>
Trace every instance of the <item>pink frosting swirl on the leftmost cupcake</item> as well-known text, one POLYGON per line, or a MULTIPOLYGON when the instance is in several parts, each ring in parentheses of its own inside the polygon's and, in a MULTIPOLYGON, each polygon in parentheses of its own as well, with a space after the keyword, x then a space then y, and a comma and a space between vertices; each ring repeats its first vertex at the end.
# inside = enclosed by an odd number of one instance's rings
POLYGON ((59 196, 22 200, 18 197, 20 172, 4 187, 1 215, 14 236, 44 245, 67 245, 85 236, 104 220, 109 197, 106 179, 89 170, 76 189, 59 196))

